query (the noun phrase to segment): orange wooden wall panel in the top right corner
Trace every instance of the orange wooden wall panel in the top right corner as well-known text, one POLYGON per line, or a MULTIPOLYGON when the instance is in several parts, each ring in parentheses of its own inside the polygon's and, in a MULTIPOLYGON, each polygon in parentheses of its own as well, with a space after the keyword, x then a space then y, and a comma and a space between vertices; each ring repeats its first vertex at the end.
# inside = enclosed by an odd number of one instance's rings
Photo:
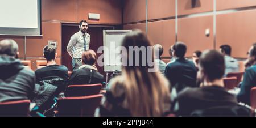
POLYGON ((216 0, 217 10, 256 6, 255 0, 216 0))

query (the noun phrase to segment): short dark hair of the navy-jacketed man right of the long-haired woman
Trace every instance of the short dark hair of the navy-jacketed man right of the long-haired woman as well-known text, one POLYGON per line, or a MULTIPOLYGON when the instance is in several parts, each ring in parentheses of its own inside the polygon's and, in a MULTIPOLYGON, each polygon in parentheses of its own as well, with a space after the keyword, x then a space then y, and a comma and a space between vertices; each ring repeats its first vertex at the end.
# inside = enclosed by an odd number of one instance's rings
POLYGON ((176 57, 183 58, 187 52, 187 46, 184 42, 177 42, 174 46, 174 54, 176 57))

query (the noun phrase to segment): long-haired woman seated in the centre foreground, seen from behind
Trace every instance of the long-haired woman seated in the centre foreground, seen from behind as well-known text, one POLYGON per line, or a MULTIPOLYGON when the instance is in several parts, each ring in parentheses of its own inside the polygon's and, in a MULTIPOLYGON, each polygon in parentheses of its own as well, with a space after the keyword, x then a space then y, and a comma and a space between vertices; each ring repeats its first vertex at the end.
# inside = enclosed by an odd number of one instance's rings
POLYGON ((164 116, 171 106, 168 80, 159 71, 148 72, 149 65, 143 66, 142 61, 128 57, 130 47, 147 48, 150 42, 141 31, 133 31, 126 35, 122 46, 128 51, 123 55, 126 61, 123 61, 122 74, 110 80, 100 109, 97 109, 100 116, 164 116), (135 65, 135 61, 139 65, 135 65), (125 66, 126 62, 134 62, 134 65, 125 66))

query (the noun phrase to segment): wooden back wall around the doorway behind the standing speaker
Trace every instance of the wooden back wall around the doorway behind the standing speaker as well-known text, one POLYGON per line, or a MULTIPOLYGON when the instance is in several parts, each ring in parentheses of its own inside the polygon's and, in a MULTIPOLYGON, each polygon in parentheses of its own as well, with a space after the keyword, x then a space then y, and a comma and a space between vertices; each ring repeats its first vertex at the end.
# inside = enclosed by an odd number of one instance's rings
POLYGON ((32 61, 43 58, 43 47, 48 40, 56 40, 57 63, 61 58, 61 23, 79 23, 85 19, 89 24, 122 24, 123 3, 120 0, 42 0, 42 37, 0 36, 0 40, 11 38, 18 42, 20 59, 32 61), (89 20, 88 13, 99 13, 100 20, 89 20), (24 43, 25 42, 25 43, 24 43), (24 44, 26 44, 24 46, 24 44))

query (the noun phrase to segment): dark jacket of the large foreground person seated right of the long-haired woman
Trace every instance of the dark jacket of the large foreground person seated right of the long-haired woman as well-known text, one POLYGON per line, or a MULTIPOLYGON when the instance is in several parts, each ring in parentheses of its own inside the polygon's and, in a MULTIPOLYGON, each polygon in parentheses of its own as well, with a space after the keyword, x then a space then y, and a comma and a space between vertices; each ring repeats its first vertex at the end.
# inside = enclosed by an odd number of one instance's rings
POLYGON ((236 97, 220 86, 185 88, 178 94, 174 104, 177 116, 190 116, 196 110, 238 105, 236 97))

